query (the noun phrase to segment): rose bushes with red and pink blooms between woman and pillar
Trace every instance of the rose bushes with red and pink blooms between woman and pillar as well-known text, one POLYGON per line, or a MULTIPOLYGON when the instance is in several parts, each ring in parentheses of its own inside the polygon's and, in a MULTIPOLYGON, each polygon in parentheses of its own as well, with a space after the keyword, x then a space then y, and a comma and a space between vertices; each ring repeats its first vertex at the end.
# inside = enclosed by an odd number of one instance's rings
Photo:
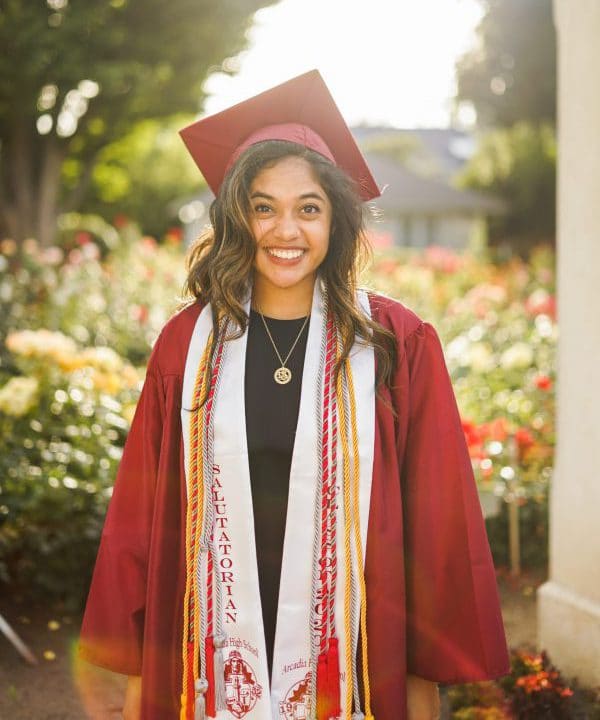
POLYGON ((558 339, 552 250, 496 263, 395 249, 376 256, 368 280, 439 331, 480 491, 502 501, 487 519, 496 563, 508 562, 514 502, 527 538, 522 562, 544 566, 558 339))

